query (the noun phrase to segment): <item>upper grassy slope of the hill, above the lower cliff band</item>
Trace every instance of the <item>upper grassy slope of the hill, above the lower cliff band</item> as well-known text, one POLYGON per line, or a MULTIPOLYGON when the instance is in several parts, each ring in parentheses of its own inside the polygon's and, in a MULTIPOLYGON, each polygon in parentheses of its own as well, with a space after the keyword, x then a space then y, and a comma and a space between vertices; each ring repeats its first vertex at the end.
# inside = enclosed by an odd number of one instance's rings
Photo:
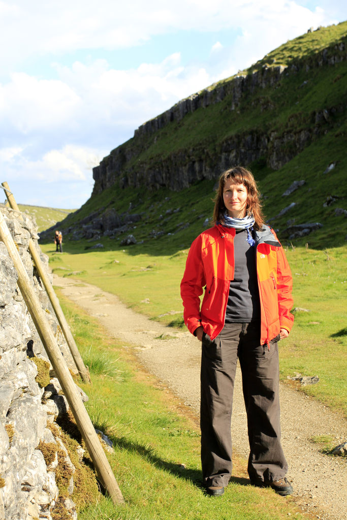
MULTIPOLYGON (((182 120, 174 120, 155 133, 137 134, 119 147, 118 151, 124 150, 130 157, 118 172, 119 177, 155 168, 170 161, 175 154, 183 154, 187 160, 189 156, 193 159, 203 157, 206 165, 213 168, 225 144, 236 136, 240 140, 250 133, 298 134, 314 126, 319 137, 326 129, 338 128, 345 119, 346 64, 345 60, 334 61, 337 54, 344 53, 346 34, 347 22, 306 33, 239 73, 239 76, 251 76, 251 87, 241 93, 235 109, 234 77, 211 85, 206 90, 212 95, 215 93, 216 99, 212 99, 209 106, 190 112, 182 120), (259 86, 264 74, 278 65, 287 67, 280 80, 259 86), (224 97, 219 100, 217 91, 221 86, 224 97), (316 121, 317 114, 324 110, 331 110, 330 120, 316 121)), ((203 95, 203 92, 199 94, 203 95)), ((268 154, 271 154, 272 146, 269 142, 268 154)), ((288 149, 282 152, 287 151, 290 156, 291 146, 293 143, 288 140, 288 149)))

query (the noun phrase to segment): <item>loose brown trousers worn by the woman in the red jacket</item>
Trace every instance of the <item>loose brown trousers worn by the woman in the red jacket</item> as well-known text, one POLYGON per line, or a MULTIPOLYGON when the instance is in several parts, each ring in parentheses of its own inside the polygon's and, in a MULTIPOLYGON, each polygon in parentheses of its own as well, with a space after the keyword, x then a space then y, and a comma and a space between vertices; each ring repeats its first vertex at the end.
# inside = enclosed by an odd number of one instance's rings
MULTIPOLYGON (((277 339, 276 339, 277 340, 277 339)), ((252 482, 283 478, 288 465, 280 444, 277 342, 260 343, 260 323, 228 323, 213 340, 202 337, 201 465, 203 485, 226 487, 232 474, 230 431, 237 358, 247 412, 252 482)))

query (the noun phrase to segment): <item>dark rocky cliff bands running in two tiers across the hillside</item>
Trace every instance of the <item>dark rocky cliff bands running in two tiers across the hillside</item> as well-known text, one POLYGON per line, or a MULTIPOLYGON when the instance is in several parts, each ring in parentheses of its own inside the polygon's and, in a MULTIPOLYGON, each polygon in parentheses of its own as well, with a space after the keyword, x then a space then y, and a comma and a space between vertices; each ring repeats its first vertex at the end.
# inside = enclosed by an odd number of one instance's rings
MULTIPOLYGON (((265 62, 255 64, 246 73, 237 74, 179 101, 169 110, 141 125, 132 139, 112 150, 99 166, 93 168, 93 193, 100 193, 115 183, 121 188, 145 185, 151 189, 166 187, 175 191, 182 190, 200 179, 217 177, 232 164, 248 165, 259 160, 278 170, 310 145, 317 136, 327 132, 333 118, 345 112, 345 103, 324 109, 317 108, 310 114, 310 124, 306 124, 306 120, 296 125, 288 122, 281 131, 271 128, 270 124, 268 128, 233 133, 234 135, 221 142, 212 144, 211 141, 208 147, 201 142, 194 148, 183 147, 166 153, 164 157, 160 154, 150 159, 138 160, 138 157, 156 142, 160 132, 165 131, 172 123, 184 123, 184 119, 196 110, 207 109, 223 102, 225 110, 230 113, 230 121, 237 121, 242 118, 239 108, 245 103, 247 96, 258 92, 260 111, 269 111, 273 108, 273 101, 263 96, 262 90, 267 87, 281 88, 284 77, 294 77, 301 71, 309 75, 319 67, 331 67, 345 59, 346 49, 342 40, 317 53, 295 59, 288 66, 269 66, 265 62)), ((307 82, 301 87, 305 83, 307 82)), ((300 114, 298 117, 300 118, 300 114)))

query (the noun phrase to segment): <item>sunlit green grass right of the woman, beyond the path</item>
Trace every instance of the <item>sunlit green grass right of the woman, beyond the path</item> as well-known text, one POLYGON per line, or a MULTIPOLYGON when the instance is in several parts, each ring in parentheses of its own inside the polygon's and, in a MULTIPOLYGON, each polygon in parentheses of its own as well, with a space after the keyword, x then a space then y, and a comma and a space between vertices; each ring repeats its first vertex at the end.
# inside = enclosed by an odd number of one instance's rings
POLYGON ((304 392, 347 416, 347 248, 296 248, 289 249, 287 256, 294 279, 294 306, 309 312, 295 313, 292 333, 280 343, 281 378, 295 372, 318 375, 319 383, 305 387, 304 392))

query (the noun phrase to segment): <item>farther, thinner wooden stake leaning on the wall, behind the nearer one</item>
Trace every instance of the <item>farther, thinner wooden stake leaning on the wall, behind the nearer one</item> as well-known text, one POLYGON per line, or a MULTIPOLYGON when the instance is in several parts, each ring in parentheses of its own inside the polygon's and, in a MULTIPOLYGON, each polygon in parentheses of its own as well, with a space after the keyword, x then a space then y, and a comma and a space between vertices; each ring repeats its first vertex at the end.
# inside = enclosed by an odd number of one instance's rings
MULTIPOLYGON (((8 203, 11 206, 12 210, 19 211, 19 213, 20 213, 20 209, 17 205, 16 199, 15 199, 13 193, 11 193, 8 184, 2 183, 2 186, 5 188, 6 197, 7 197, 8 203)), ((21 218, 23 218, 23 217, 21 216, 21 218)), ((36 266, 38 276, 40 276, 40 278, 44 284, 44 287, 46 289, 46 292, 48 294, 50 303, 52 303, 52 307, 54 309, 55 315, 59 321, 60 328, 62 330, 63 335, 65 336, 65 339, 69 346, 72 358, 75 362, 77 370, 79 371, 82 381, 84 383, 90 383, 91 378, 89 377, 88 369, 84 365, 81 354, 79 353, 79 349, 77 348, 77 345, 75 343, 71 330, 68 326, 68 322, 66 321, 64 313, 61 310, 59 300, 52 287, 52 283, 50 283, 50 280, 45 272, 44 266, 42 265, 40 255, 38 254, 34 241, 32 239, 29 240, 29 251, 30 251, 31 257, 34 261, 34 264, 36 266)))

